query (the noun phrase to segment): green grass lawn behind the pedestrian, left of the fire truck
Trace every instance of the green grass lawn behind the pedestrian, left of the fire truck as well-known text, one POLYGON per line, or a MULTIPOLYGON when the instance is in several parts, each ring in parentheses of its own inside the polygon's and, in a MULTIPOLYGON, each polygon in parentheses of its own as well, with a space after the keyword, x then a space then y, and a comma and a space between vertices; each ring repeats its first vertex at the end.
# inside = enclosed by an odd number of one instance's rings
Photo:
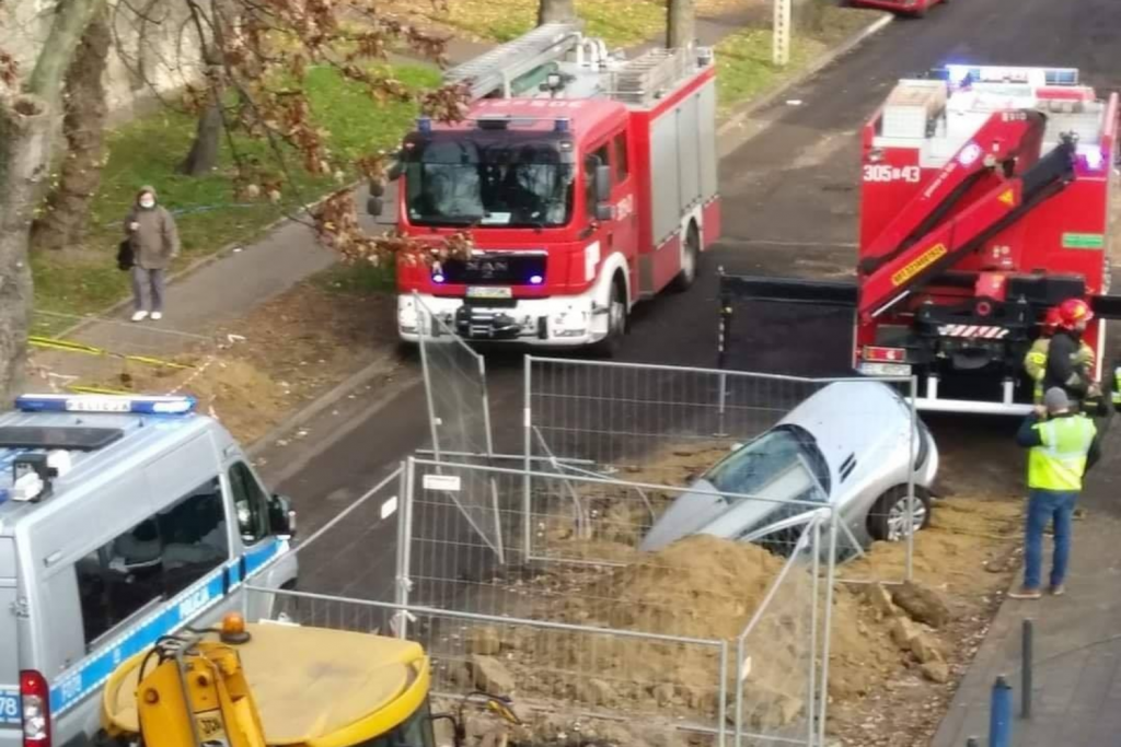
MULTIPOLYGON (((396 66, 393 74, 413 87, 439 84, 438 72, 424 66, 396 66)), ((342 80, 330 68, 308 73, 306 88, 317 123, 331 133, 331 148, 344 156, 355 156, 395 144, 411 125, 416 110, 411 104, 379 104, 361 86, 342 80)), ((248 241, 270 222, 281 217, 286 206, 298 197, 314 202, 328 187, 293 164, 299 195, 288 195, 285 203, 272 205, 233 203, 230 181, 231 159, 224 147, 222 166, 207 177, 189 178, 177 166, 189 149, 195 121, 174 112, 158 112, 142 118, 108 137, 108 164, 101 189, 93 200, 91 235, 86 251, 33 258, 36 309, 66 315, 96 312, 126 297, 127 273, 117 270, 115 252, 121 222, 132 204, 136 190, 151 184, 160 200, 176 212, 183 255, 178 267, 222 249, 231 242, 248 241)), ((258 155, 269 164, 260 142, 240 141, 243 152, 258 155)), ((65 319, 45 315, 37 319, 37 332, 66 327, 65 319)))

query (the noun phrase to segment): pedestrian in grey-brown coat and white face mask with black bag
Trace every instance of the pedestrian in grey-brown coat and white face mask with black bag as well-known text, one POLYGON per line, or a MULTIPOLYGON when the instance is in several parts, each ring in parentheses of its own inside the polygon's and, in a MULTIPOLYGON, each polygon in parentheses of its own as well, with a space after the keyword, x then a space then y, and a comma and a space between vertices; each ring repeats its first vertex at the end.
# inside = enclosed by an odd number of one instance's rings
POLYGON ((164 316, 164 276, 179 253, 175 218, 156 202, 156 190, 145 185, 124 218, 124 235, 132 246, 133 321, 164 316))

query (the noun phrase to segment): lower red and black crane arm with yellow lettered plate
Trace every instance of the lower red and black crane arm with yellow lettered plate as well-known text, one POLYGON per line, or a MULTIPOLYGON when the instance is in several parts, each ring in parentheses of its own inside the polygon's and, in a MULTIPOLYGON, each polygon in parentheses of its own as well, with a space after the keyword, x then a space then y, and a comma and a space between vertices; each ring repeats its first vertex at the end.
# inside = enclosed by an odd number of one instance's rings
POLYGON ((1064 189, 1074 179, 1074 139, 1064 137, 1057 148, 1021 175, 990 189, 883 263, 863 281, 856 308, 860 318, 867 321, 879 316, 1064 189))

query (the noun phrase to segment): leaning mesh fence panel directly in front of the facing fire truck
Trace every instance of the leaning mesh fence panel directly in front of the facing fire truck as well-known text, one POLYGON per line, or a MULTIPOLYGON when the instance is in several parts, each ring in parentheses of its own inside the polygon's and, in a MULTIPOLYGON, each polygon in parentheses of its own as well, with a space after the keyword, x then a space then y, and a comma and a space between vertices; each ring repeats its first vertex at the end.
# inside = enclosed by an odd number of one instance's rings
MULTIPOLYGON (((487 363, 415 297, 420 312, 420 361, 424 370, 433 451, 441 461, 489 459, 490 407, 487 400, 487 363)), ((465 475, 455 503, 479 536, 503 561, 498 494, 481 473, 465 475)))

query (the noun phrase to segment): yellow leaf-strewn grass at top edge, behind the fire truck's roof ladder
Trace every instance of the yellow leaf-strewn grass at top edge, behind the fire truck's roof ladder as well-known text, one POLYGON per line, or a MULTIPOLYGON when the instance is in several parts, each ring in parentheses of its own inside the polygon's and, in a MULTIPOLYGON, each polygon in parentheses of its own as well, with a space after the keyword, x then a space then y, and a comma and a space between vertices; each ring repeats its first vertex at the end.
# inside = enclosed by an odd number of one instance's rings
MULTIPOLYGON (((538 0, 448 0, 439 20, 480 39, 509 41, 537 24, 538 0)), ((576 0, 584 32, 609 47, 628 47, 663 32, 665 3, 657 0, 576 0)), ((434 17, 435 18, 435 17, 434 17)))

